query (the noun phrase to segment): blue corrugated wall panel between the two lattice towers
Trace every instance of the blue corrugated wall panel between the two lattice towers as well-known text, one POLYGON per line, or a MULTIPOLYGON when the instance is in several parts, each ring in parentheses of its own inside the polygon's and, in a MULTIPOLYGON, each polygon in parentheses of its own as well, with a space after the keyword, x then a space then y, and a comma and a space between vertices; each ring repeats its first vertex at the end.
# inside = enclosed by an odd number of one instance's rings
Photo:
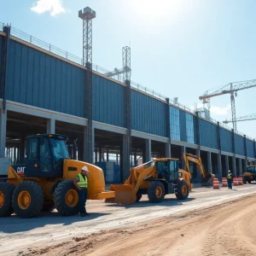
POLYGON ((125 127, 125 87, 93 75, 93 119, 125 127))

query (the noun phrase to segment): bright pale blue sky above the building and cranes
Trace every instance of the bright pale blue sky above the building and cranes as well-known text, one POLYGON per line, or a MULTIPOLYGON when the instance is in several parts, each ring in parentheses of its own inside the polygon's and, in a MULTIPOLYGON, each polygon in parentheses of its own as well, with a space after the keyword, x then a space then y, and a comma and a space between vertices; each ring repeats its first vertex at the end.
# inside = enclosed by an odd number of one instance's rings
MULTIPOLYGON (((256 79, 256 1, 26 0, 1 1, 0 22, 82 56, 79 9, 96 10, 93 62, 122 67, 131 44, 131 79, 188 107, 206 90, 256 79)), ((236 117, 256 113, 256 88, 236 97, 236 117)), ((230 119, 230 96, 212 98, 212 118, 230 119)), ((230 125, 231 126, 231 125, 230 125)), ((256 120, 237 123, 255 136, 256 120)))

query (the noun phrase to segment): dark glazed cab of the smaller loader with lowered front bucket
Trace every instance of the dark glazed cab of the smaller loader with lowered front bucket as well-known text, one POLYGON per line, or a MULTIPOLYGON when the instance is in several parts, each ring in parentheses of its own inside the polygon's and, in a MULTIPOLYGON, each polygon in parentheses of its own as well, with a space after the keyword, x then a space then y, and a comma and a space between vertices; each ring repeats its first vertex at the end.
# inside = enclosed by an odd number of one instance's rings
POLYGON ((159 178, 166 179, 167 182, 175 182, 178 179, 179 161, 176 159, 163 159, 155 162, 159 178))

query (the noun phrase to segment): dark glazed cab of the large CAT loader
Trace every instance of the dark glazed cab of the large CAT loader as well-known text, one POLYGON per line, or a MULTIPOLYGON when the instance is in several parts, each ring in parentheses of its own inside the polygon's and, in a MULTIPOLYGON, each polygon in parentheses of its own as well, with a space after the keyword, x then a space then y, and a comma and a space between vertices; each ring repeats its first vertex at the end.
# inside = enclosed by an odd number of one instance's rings
POLYGON ((69 159, 66 141, 52 134, 27 137, 25 177, 62 177, 63 160, 69 159))

